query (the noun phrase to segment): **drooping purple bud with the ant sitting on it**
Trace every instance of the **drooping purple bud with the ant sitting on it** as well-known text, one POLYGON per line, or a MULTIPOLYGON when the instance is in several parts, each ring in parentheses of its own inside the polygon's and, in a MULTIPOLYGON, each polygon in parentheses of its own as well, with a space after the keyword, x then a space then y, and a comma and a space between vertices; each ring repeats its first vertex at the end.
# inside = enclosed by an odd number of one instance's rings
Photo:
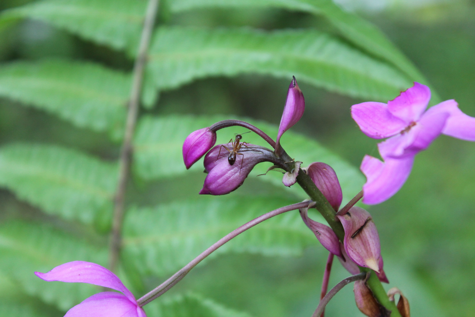
POLYGON ((263 146, 246 144, 231 164, 228 160, 231 153, 224 146, 228 145, 218 144, 206 154, 204 166, 208 175, 200 194, 228 194, 242 185, 257 163, 272 162, 275 158, 274 152, 263 146))

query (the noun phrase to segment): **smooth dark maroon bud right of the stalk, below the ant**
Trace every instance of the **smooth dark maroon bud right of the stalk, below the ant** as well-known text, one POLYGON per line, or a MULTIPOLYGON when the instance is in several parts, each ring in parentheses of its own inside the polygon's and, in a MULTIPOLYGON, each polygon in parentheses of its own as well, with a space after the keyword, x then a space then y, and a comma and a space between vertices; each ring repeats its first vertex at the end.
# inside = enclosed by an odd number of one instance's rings
POLYGON ((307 174, 335 211, 342 204, 343 194, 340 182, 333 168, 325 163, 314 162, 307 167, 307 174))

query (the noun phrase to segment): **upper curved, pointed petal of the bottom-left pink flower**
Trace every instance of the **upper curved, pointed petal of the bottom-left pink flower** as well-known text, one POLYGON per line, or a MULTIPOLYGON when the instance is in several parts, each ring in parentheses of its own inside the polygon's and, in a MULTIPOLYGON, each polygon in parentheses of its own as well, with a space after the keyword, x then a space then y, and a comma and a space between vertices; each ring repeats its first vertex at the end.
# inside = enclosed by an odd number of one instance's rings
POLYGON ((130 301, 135 303, 135 297, 108 269, 92 262, 72 261, 61 264, 47 273, 35 272, 35 275, 45 281, 89 283, 121 291, 130 301))

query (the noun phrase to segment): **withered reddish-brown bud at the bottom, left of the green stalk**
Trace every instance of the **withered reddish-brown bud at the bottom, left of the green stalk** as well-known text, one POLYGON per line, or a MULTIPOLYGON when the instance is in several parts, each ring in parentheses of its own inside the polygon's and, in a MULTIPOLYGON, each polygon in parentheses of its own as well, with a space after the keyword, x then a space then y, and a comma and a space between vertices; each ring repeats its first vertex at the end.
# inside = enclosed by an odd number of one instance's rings
POLYGON ((356 306, 360 311, 369 317, 390 317, 391 311, 382 306, 374 298, 371 289, 366 286, 366 280, 356 281, 353 286, 356 306))

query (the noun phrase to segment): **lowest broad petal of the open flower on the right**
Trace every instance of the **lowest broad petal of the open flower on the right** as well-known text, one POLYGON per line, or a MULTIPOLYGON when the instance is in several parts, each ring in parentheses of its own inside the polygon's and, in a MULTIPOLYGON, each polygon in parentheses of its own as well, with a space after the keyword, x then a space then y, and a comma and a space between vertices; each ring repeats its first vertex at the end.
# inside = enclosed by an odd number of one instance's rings
POLYGON ((367 179, 363 185, 363 202, 374 205, 388 200, 406 182, 413 163, 414 155, 399 159, 385 158, 384 163, 366 155, 360 166, 367 179))

